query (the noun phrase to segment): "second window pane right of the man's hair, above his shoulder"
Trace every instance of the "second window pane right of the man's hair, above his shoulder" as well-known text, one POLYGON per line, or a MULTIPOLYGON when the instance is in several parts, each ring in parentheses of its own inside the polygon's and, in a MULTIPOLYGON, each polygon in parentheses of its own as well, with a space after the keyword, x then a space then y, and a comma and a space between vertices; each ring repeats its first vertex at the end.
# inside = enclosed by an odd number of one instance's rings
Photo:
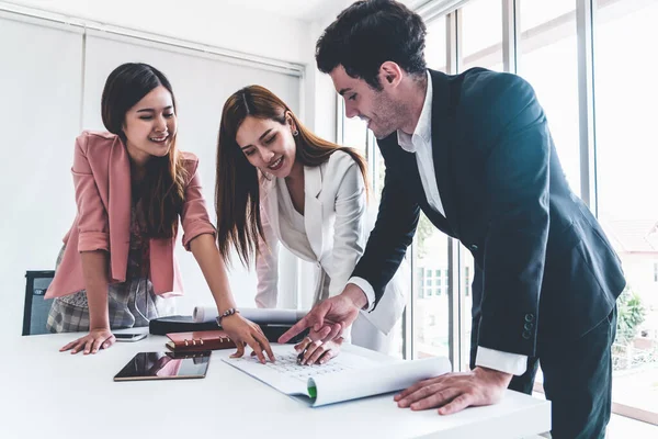
POLYGON ((472 0, 462 14, 461 71, 472 67, 502 70, 502 2, 472 0))

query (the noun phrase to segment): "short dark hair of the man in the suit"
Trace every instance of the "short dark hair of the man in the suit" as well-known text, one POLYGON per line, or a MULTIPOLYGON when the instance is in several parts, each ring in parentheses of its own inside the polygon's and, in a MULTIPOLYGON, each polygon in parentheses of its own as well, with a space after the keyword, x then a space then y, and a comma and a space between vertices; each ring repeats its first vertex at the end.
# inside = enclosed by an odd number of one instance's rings
POLYGON ((358 1, 325 30, 316 44, 316 63, 325 74, 342 65, 352 78, 382 90, 377 74, 385 61, 410 75, 424 72, 426 33, 420 15, 397 1, 358 1))

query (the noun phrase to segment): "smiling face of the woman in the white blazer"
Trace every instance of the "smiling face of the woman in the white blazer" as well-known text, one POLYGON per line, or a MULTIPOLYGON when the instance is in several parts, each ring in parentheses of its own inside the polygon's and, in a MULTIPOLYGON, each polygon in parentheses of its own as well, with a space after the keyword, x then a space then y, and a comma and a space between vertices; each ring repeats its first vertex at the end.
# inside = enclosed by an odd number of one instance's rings
POLYGON ((247 116, 236 133, 236 143, 249 162, 262 172, 286 178, 295 164, 292 122, 247 116))

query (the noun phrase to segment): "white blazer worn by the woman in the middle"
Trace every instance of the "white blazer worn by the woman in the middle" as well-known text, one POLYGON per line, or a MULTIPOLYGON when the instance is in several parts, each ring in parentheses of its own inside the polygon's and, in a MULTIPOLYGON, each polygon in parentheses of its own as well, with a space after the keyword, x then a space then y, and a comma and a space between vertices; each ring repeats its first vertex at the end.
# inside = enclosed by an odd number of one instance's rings
MULTIPOLYGON (((280 222, 277 179, 261 185, 261 223, 265 241, 260 241, 256 269, 259 307, 275 307, 279 282, 279 243, 303 260, 314 262, 318 272, 316 297, 322 289, 324 270, 330 278, 329 296, 342 292, 356 262, 363 255, 367 236, 374 225, 373 215, 366 213, 366 192, 363 177, 354 159, 347 153, 336 151, 329 160, 317 167, 304 167, 304 225, 315 254, 309 260, 297 250, 297 243, 285 243, 280 222)), ((287 189, 286 189, 287 190, 287 189)), ((398 270, 388 283, 377 307, 362 312, 376 328, 388 334, 401 316, 407 300, 408 284, 398 270)))

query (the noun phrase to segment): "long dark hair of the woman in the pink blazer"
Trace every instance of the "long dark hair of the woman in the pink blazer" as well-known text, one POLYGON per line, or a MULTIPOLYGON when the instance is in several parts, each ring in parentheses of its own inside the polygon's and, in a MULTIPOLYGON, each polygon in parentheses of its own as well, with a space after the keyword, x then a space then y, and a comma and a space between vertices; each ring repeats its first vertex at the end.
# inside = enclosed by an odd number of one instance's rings
MULTIPOLYGON (((171 93, 173 111, 175 99, 167 77, 148 64, 127 63, 115 68, 103 89, 101 112, 103 124, 110 133, 118 135, 126 145, 123 132, 126 112, 155 88, 162 86, 171 93)), ((146 173, 138 196, 146 219, 145 234, 154 238, 175 236, 179 213, 185 196, 186 171, 182 156, 175 147, 175 135, 171 148, 163 157, 151 157, 146 165, 146 173)))

